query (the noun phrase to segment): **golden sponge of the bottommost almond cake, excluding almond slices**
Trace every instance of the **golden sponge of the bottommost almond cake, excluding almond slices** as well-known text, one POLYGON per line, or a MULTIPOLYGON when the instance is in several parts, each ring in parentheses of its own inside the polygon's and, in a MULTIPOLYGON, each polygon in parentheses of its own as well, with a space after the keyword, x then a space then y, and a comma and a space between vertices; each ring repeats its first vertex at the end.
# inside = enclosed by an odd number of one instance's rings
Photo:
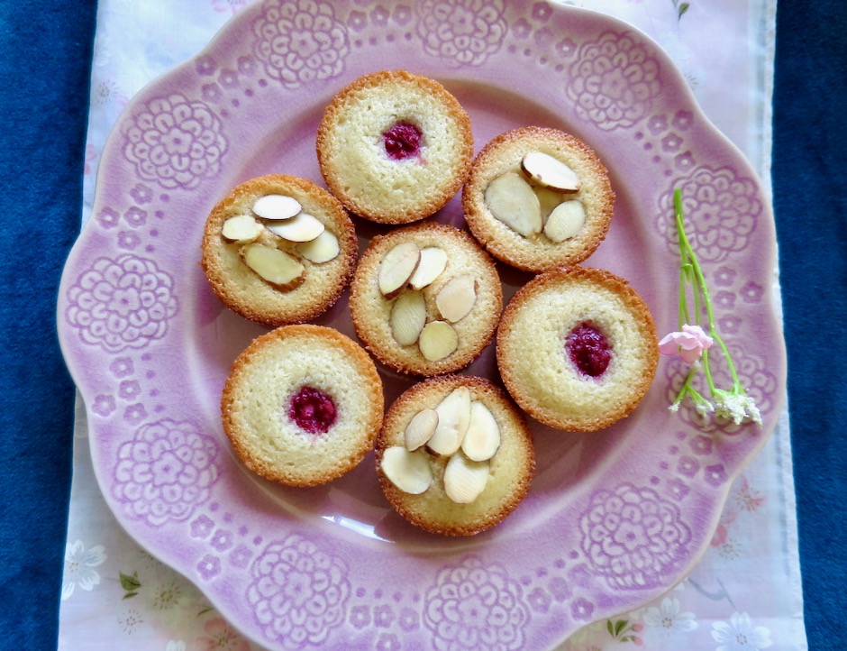
POLYGON ((444 375, 414 384, 387 410, 375 444, 379 483, 397 513, 417 527, 442 536, 473 536, 494 527, 510 515, 526 492, 535 472, 533 438, 524 415, 505 391, 484 378, 444 375), (399 490, 380 469, 383 454, 392 445, 404 445, 405 427, 423 408, 435 408, 452 390, 466 386, 472 399, 482 401, 500 427, 500 448, 491 459, 485 491, 469 504, 452 501, 443 488, 447 458, 429 454, 433 483, 418 495, 399 490))

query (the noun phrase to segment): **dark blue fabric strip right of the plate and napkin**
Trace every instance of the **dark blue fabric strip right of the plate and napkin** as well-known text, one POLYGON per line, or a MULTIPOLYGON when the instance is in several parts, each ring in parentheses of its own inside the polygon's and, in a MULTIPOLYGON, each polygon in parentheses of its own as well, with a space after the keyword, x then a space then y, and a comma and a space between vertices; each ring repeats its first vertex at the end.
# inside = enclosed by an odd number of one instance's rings
POLYGON ((781 0, 773 194, 811 649, 847 647, 847 9, 781 0))

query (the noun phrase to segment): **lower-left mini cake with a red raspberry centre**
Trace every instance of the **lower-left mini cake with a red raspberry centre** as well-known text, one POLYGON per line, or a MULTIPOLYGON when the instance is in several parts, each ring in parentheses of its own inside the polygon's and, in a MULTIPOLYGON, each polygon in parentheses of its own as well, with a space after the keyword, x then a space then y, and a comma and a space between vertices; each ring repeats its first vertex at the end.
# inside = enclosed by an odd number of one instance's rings
POLYGON ((270 481, 315 486, 352 470, 382 425, 382 381, 369 354, 323 325, 257 337, 223 386, 223 430, 270 481))

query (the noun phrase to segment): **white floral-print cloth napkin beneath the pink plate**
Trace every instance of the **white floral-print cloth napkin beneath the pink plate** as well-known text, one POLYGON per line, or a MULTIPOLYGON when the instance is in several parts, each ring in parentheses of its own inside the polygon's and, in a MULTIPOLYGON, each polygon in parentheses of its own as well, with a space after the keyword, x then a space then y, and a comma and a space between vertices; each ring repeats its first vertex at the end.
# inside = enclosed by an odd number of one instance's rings
MULTIPOLYGON (((129 98, 201 50, 245 4, 100 0, 83 219, 91 211, 106 136, 129 98)), ((706 115, 751 160, 770 194, 776 0, 567 4, 624 19, 659 42, 685 73, 706 115)), ((776 271, 774 292, 779 292, 776 271)), ((257 649, 192 584, 159 564, 117 524, 97 487, 81 405, 75 443, 59 648, 257 649)), ((543 608, 543 599, 538 595, 533 608, 543 608)), ((381 639, 386 650, 402 648, 397 637, 381 639)), ((706 555, 685 581, 642 609, 578 631, 560 650, 635 646, 657 651, 806 648, 787 414, 735 482, 706 555)))

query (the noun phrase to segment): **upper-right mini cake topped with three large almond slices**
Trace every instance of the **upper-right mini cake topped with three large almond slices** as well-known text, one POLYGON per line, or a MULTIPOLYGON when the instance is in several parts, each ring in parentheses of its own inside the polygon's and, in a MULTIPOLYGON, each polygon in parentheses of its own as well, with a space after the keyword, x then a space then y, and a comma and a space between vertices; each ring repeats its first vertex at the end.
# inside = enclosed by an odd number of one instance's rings
POLYGON ((488 142, 462 191, 478 242, 497 259, 536 272, 595 252, 614 204, 594 151, 569 133, 535 126, 488 142))

